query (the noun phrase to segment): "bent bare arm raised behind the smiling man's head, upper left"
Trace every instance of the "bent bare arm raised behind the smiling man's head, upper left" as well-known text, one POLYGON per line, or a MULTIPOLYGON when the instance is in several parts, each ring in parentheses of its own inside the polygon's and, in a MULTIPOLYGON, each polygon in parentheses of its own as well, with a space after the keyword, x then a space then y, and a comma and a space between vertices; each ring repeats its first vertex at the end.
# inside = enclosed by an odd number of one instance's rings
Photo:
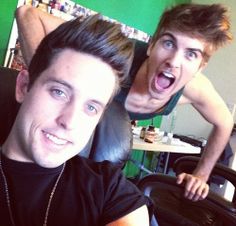
POLYGON ((26 64, 29 65, 44 36, 62 24, 64 20, 24 5, 16 10, 16 22, 22 54, 26 64))

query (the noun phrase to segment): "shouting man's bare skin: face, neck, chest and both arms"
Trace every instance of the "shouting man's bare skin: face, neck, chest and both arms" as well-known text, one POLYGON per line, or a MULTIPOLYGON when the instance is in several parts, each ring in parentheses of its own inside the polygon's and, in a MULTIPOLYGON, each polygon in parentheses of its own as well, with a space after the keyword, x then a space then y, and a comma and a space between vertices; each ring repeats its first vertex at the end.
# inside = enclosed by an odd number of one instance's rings
MULTIPOLYGON (((40 40, 63 23, 61 19, 27 6, 17 10, 16 18, 27 63, 40 40), (35 30, 34 36, 29 29, 31 27, 35 30)), ((126 109, 131 112, 158 112, 174 93, 185 87, 178 104, 192 104, 213 125, 197 168, 192 174, 183 173, 177 177, 178 184, 185 183, 186 198, 193 201, 207 196, 209 186, 206 182, 233 127, 232 116, 223 99, 200 73, 206 66, 202 58, 206 45, 203 40, 187 34, 164 31, 156 43, 151 43, 147 51, 149 58, 140 67, 125 103, 126 109), (168 72, 174 78, 166 89, 157 85, 160 72, 168 72)))

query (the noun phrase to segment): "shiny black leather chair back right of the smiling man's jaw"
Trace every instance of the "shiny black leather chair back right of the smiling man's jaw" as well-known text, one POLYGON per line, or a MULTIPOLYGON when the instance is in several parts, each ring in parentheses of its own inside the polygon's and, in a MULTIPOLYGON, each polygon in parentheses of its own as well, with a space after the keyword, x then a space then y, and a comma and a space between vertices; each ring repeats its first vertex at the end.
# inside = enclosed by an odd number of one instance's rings
POLYGON ((131 145, 132 130, 127 111, 119 102, 113 101, 96 128, 89 158, 123 165, 130 155, 131 145))

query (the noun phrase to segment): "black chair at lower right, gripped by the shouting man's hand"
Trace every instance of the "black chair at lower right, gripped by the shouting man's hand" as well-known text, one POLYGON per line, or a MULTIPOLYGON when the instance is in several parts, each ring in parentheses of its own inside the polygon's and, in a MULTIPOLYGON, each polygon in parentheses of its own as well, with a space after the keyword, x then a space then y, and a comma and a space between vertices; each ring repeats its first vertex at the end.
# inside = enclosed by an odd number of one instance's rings
MULTIPOLYGON (((182 157, 174 164, 174 171, 192 172, 198 157, 182 157)), ((236 172, 222 164, 216 164, 212 174, 219 175, 236 187, 236 172)), ((160 226, 235 226, 235 198, 227 201, 217 193, 210 191, 207 198, 193 202, 184 198, 184 187, 176 184, 176 177, 164 174, 152 174, 138 183, 144 194, 154 204, 154 215, 160 226)))

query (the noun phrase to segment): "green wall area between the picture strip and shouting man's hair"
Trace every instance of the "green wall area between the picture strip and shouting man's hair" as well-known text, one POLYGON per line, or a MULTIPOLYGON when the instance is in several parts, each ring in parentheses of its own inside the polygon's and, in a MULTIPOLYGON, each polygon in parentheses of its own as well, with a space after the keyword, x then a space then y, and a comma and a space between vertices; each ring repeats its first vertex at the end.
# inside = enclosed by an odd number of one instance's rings
POLYGON ((164 9, 190 0, 75 0, 76 3, 153 34, 164 9))

